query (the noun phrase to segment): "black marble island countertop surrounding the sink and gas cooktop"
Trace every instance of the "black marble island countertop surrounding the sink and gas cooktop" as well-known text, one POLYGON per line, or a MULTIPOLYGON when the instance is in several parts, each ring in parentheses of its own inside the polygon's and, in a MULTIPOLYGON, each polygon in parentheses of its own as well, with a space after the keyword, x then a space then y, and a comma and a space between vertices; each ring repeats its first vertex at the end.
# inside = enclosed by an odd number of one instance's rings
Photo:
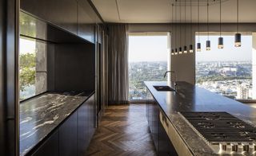
POLYGON ((178 131, 182 140, 186 142, 194 155, 214 155, 210 146, 199 138, 198 135, 182 119, 181 111, 226 111, 231 115, 242 119, 256 127, 256 109, 234 99, 219 96, 204 88, 198 88, 193 84, 178 81, 177 92, 158 92, 154 85, 169 85, 166 81, 146 81, 146 87, 157 100, 159 107, 166 114, 170 123, 178 131))

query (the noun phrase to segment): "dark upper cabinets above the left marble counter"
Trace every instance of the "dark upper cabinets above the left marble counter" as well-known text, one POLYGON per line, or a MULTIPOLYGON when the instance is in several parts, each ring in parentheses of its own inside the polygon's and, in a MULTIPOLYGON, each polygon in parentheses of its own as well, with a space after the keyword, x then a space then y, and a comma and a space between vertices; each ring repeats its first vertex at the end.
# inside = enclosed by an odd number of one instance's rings
POLYGON ((87 0, 21 0, 21 9, 90 42, 97 41, 102 24, 87 0))

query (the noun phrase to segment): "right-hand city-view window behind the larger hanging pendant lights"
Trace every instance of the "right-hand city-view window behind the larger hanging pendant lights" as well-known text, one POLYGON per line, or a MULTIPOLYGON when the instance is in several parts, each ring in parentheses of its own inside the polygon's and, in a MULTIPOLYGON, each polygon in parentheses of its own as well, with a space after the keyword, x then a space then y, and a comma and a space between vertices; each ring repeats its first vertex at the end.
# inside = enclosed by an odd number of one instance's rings
POLYGON ((234 47, 234 35, 224 35, 224 49, 218 49, 218 36, 210 35, 210 51, 205 48, 207 36, 199 38, 202 52, 196 53, 196 84, 231 99, 254 99, 252 36, 242 35, 242 46, 234 47))

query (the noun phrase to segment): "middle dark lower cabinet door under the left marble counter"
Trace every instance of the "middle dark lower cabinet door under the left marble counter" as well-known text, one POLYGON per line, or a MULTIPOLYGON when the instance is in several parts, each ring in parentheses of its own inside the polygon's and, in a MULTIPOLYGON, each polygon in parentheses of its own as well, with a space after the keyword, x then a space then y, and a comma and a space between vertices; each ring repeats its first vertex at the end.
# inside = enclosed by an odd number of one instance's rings
POLYGON ((77 155, 77 112, 74 112, 59 128, 59 155, 77 155))

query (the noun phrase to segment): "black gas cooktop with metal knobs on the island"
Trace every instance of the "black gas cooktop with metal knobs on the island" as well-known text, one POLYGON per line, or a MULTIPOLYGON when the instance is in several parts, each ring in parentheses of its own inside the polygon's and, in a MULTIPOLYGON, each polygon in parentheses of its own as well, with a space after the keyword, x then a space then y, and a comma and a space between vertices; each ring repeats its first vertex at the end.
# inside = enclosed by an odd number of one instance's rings
POLYGON ((227 112, 181 112, 186 123, 218 154, 254 154, 256 127, 227 112))

